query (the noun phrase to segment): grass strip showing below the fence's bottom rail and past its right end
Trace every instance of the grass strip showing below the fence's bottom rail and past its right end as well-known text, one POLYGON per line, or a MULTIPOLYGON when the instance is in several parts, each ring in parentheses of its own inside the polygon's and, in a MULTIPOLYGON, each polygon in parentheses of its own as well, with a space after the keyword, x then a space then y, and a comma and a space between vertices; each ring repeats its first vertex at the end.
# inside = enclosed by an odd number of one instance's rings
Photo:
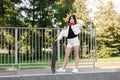
MULTIPOLYGON (((70 64, 74 64, 74 61, 69 62, 70 64)), ((86 62, 85 62, 86 63, 86 62)), ((57 67, 61 67, 62 64, 57 64, 57 67)), ((106 66, 120 66, 120 57, 109 57, 109 58, 97 58, 97 62, 95 63, 96 67, 106 67, 106 66)), ((15 65, 14 68, 18 69, 18 65, 15 65)), ((50 68, 50 64, 23 64, 21 67, 26 68, 50 68), (30 66, 30 67, 29 67, 30 66)), ((68 66, 69 67, 69 66, 68 66)), ((89 67, 89 65, 84 64, 80 67, 89 67)), ((14 69, 13 68, 13 69, 14 69)), ((4 69, 4 68, 3 68, 4 69)), ((8 67, 8 69, 11 69, 8 67)), ((2 70, 2 69, 0 69, 2 70)))

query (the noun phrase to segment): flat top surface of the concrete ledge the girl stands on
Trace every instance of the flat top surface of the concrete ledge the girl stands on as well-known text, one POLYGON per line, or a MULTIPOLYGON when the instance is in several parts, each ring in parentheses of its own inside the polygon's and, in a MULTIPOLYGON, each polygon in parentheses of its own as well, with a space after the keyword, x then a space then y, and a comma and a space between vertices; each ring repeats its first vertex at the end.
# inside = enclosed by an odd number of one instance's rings
MULTIPOLYGON (((65 73, 72 74, 72 68, 67 68, 65 73)), ((100 67, 100 68, 79 68, 79 73, 100 73, 100 72, 119 72, 120 66, 100 67)), ((31 75, 54 75, 50 69, 23 69, 23 70, 0 70, 0 77, 5 76, 31 76, 31 75)))

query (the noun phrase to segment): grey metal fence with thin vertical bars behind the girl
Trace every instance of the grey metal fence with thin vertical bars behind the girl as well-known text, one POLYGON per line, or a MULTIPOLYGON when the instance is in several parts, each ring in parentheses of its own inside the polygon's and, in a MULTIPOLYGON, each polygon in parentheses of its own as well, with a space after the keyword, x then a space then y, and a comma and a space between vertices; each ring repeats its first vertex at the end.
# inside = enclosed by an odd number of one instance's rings
MULTIPOLYGON (((0 27, 0 68, 36 67, 34 64, 48 65, 51 62, 52 45, 60 32, 60 28, 25 28, 0 27)), ((96 31, 95 29, 81 29, 80 63, 92 63, 96 59, 96 31)), ((57 63, 63 62, 66 39, 58 42, 57 63)), ((70 60, 74 58, 71 52, 70 60)))

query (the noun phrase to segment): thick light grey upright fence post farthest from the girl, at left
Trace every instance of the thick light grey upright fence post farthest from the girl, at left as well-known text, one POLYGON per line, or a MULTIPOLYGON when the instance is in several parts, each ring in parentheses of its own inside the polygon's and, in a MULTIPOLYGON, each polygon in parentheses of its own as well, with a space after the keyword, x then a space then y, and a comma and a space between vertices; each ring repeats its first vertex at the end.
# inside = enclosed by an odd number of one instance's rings
POLYGON ((15 28, 15 64, 18 63, 18 28, 15 28))

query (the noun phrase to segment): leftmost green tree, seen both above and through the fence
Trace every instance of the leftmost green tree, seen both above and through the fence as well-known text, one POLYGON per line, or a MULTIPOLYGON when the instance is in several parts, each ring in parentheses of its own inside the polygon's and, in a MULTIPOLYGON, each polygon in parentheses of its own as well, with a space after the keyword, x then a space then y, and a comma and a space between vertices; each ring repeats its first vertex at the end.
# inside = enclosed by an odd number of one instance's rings
MULTIPOLYGON (((19 10, 16 8, 16 4, 21 3, 21 0, 0 0, 0 26, 2 27, 17 27, 21 25, 18 19, 19 10)), ((14 36, 15 31, 13 29, 0 29, 1 30, 1 45, 6 45, 9 54, 11 49, 14 48, 14 36)))

